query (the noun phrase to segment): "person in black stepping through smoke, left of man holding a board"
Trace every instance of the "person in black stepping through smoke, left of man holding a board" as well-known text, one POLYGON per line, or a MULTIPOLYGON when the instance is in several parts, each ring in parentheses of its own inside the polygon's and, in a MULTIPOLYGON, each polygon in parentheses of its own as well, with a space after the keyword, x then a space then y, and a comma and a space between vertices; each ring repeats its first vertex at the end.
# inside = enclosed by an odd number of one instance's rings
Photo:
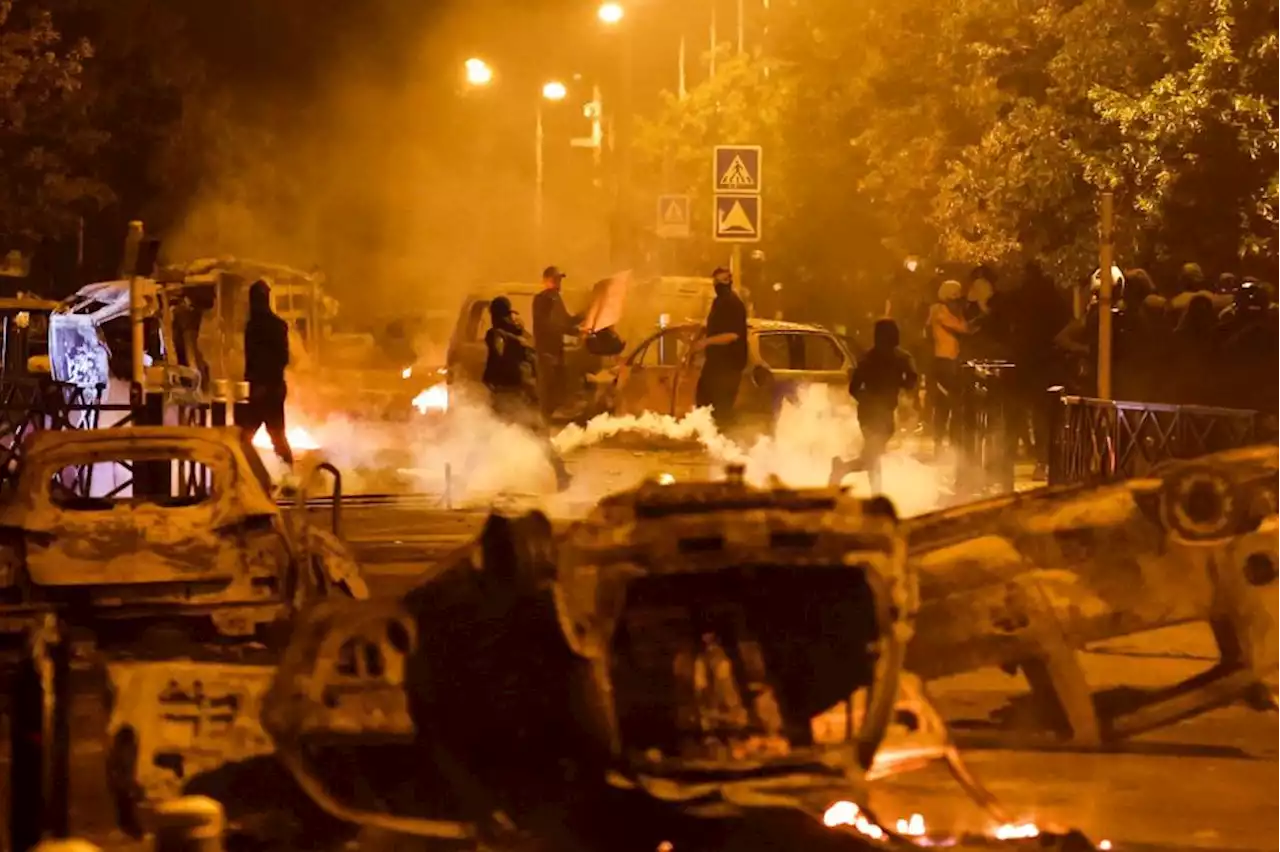
POLYGON ((556 485, 563 491, 571 477, 564 461, 552 446, 538 409, 534 340, 525 333, 511 299, 499 296, 489 303, 492 326, 484 335, 486 349, 484 376, 493 411, 499 420, 524 426, 543 443, 548 463, 556 471, 556 485))

